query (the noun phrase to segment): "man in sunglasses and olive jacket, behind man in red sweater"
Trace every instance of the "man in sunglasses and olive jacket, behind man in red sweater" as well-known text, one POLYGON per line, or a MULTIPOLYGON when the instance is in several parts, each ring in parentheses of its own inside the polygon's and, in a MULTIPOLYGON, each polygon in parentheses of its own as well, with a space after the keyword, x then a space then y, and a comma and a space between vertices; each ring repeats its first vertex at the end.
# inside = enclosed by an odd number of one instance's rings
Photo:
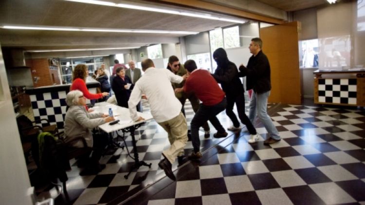
MULTIPOLYGON (((183 67, 183 65, 180 64, 179 58, 177 56, 170 56, 168 58, 167 69, 170 70, 175 75, 179 75, 179 76, 186 75, 186 73, 187 73, 186 69, 183 67)), ((185 84, 185 80, 181 83, 172 83, 172 87, 175 90, 177 88, 183 88, 184 84, 185 84)), ((182 112, 184 115, 185 115, 184 105, 185 105, 186 99, 189 99, 191 106, 193 107, 194 113, 196 113, 199 110, 200 101, 195 96, 194 93, 187 94, 185 92, 175 92, 175 96, 179 99, 179 101, 183 105, 182 112)), ((209 128, 208 123, 205 122, 202 127, 204 129, 204 137, 205 138, 210 137, 210 128, 209 128)), ((189 137, 189 141, 190 141, 191 140, 190 130, 188 130, 188 137, 189 137)))

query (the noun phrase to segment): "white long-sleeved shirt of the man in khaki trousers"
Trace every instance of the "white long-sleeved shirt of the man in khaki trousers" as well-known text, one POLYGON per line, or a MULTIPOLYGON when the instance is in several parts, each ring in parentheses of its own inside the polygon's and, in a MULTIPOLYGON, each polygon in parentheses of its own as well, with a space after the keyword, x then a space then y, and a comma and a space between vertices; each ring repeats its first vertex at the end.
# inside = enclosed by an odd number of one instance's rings
POLYGON ((180 83, 183 77, 174 75, 167 69, 148 68, 137 81, 130 94, 128 107, 132 120, 137 120, 136 105, 141 95, 146 94, 151 114, 156 122, 170 120, 181 112, 182 105, 175 97, 171 82, 180 83))

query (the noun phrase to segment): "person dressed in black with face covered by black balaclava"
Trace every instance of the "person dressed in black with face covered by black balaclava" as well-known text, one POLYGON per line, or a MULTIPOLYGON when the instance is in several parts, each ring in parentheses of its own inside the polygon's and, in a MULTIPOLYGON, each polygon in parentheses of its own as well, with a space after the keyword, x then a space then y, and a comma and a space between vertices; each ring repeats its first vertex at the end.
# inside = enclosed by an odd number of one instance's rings
MULTIPOLYGON (((245 113, 245 97, 244 89, 241 81, 238 78, 237 66, 228 60, 227 53, 224 49, 219 48, 213 53, 213 58, 217 62, 217 69, 214 72, 213 77, 222 86, 227 98, 226 113, 232 120, 233 126, 228 130, 240 130, 239 122, 236 114, 233 112, 233 106, 236 103, 238 117, 243 124, 246 125, 247 130, 250 132, 250 139, 258 139, 258 134, 255 127, 252 125, 250 119, 245 113)), ((219 133, 217 133, 219 136, 219 133)), ((255 142, 253 141, 253 142, 255 142)), ((250 141, 249 141, 250 142, 250 141)), ((250 143, 253 143, 250 142, 250 143)))

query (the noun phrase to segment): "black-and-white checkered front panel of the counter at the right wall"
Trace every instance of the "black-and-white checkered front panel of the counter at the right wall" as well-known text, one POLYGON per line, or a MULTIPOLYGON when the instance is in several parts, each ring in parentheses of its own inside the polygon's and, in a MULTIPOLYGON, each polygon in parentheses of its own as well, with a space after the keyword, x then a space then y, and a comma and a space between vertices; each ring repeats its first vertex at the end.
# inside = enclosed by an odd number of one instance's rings
POLYGON ((318 102, 356 105, 357 79, 319 79, 318 102))

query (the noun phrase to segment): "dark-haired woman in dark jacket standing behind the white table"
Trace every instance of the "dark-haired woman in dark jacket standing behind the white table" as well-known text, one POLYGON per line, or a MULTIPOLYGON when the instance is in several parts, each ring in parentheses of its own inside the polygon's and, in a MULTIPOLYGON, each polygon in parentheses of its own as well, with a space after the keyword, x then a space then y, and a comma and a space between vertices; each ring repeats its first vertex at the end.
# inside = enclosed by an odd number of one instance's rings
POLYGON ((129 77, 126 75, 126 71, 123 67, 119 67, 116 70, 116 75, 113 78, 112 89, 115 94, 115 98, 117 99, 118 106, 128 108, 128 100, 131 91, 129 87, 132 82, 129 77))

